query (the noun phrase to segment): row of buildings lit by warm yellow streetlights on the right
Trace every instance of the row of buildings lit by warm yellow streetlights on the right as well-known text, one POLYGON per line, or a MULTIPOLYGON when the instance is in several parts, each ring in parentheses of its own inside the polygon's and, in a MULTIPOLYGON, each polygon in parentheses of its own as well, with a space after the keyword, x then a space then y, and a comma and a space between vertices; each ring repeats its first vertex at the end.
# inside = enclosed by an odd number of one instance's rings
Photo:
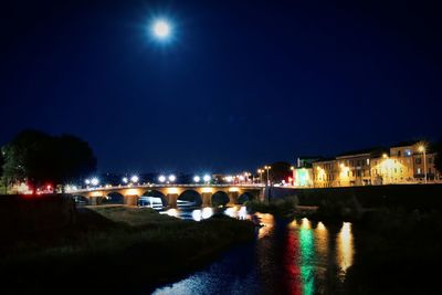
MULTIPOLYGON (((389 149, 345 152, 335 158, 312 161, 308 175, 312 181, 302 181, 301 176, 295 179, 295 186, 332 188, 440 182, 442 175, 434 167, 435 155, 431 146, 418 140, 400 143, 389 149)), ((302 169, 297 168, 299 171, 302 169)))

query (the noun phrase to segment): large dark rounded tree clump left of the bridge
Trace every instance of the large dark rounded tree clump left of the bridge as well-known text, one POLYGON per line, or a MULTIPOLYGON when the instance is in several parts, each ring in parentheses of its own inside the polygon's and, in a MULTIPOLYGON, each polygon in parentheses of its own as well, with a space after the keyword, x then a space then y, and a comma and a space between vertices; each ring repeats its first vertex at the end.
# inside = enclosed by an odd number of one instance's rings
POLYGON ((96 169, 96 159, 86 141, 72 136, 53 137, 38 130, 23 130, 4 147, 4 177, 63 185, 96 169))

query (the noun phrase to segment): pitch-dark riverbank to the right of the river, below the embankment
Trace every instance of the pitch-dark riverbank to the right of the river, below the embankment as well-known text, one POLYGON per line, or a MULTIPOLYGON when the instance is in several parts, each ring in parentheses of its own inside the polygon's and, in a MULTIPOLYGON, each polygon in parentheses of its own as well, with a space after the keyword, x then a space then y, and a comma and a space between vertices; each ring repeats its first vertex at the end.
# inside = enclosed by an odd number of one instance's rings
POLYGON ((433 294, 440 288, 442 218, 439 211, 382 208, 355 224, 358 251, 348 294, 433 294))

